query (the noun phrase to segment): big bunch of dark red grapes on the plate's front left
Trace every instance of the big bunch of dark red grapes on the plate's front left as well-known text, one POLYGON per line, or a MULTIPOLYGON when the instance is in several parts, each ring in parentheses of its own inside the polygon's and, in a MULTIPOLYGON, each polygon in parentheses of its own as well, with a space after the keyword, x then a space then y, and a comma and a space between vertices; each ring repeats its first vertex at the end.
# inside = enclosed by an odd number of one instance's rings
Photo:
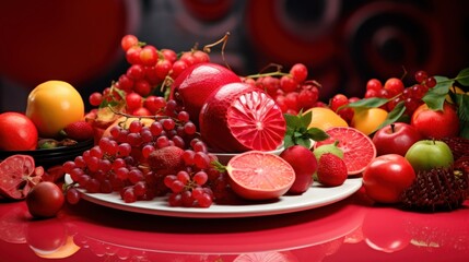
POLYGON ((78 187, 90 193, 119 192, 126 203, 168 194, 172 206, 208 207, 226 194, 224 171, 196 132, 186 111, 168 100, 164 115, 144 124, 110 128, 109 136, 63 164, 70 175, 67 199, 78 202, 78 187))

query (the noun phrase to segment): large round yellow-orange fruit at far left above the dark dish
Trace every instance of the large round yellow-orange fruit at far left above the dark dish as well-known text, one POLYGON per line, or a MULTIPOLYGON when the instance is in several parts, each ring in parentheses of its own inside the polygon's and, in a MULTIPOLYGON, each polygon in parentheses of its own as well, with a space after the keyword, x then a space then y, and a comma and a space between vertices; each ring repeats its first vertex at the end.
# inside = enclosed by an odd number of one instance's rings
POLYGON ((56 138, 67 124, 83 120, 84 103, 80 93, 63 81, 47 81, 27 96, 26 116, 42 138, 56 138))

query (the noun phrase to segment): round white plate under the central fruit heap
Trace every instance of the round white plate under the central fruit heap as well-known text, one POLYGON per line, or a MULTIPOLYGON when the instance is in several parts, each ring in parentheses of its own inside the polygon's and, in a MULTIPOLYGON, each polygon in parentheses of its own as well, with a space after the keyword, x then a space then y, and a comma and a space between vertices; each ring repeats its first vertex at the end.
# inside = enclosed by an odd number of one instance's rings
MULTIPOLYGON (((69 175, 66 175, 66 182, 72 182, 69 175)), ((86 193, 82 191, 82 198, 90 202, 136 213, 176 216, 176 217, 249 217, 266 216, 297 211, 317 209, 343 200, 362 186, 362 178, 349 178, 340 187, 326 188, 315 182, 305 193, 301 195, 283 195, 271 202, 253 202, 246 205, 218 205, 212 204, 208 209, 199 207, 174 207, 167 204, 166 198, 156 198, 151 201, 137 201, 125 203, 119 193, 86 193)))

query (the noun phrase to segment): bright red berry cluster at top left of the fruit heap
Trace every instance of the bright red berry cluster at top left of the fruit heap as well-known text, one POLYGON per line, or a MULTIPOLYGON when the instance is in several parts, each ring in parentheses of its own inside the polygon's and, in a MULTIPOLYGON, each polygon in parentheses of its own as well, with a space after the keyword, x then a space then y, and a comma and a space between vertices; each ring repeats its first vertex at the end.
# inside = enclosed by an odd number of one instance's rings
POLYGON ((162 107, 164 90, 168 79, 176 79, 186 68, 210 61, 202 50, 185 51, 178 56, 171 49, 156 49, 139 41, 134 35, 121 39, 126 60, 130 64, 126 73, 103 93, 90 95, 90 104, 99 106, 103 100, 125 102, 125 112, 133 116, 155 115, 162 107))

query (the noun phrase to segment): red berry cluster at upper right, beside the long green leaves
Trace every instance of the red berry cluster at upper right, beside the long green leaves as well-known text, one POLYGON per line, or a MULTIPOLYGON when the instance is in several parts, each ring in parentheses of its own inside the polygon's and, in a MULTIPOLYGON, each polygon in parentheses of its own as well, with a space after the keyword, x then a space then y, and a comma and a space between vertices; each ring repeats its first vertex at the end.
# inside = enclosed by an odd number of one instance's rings
POLYGON ((380 97, 387 98, 389 102, 385 105, 385 109, 391 111, 397 104, 403 102, 406 114, 411 116, 412 112, 423 104, 423 96, 430 88, 436 86, 436 80, 430 76, 425 71, 418 71, 414 74, 415 84, 404 87, 400 79, 388 79, 384 86, 377 79, 372 79, 366 83, 365 98, 380 97))

